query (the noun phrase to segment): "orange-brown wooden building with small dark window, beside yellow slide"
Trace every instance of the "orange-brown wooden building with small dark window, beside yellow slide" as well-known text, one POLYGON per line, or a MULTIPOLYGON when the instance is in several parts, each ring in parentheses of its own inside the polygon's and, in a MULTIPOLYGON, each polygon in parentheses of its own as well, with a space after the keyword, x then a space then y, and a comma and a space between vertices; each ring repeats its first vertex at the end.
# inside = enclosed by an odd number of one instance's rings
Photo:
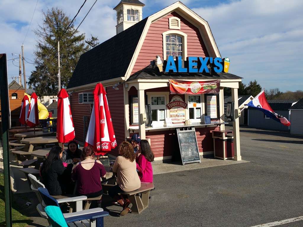
MULTIPOLYGON (((9 108, 11 110, 11 126, 19 126, 22 99, 24 97, 24 87, 13 80, 8 84, 9 108)), ((0 105, 1 110, 1 105, 0 105)), ((1 119, 1 118, 0 118, 1 119)))

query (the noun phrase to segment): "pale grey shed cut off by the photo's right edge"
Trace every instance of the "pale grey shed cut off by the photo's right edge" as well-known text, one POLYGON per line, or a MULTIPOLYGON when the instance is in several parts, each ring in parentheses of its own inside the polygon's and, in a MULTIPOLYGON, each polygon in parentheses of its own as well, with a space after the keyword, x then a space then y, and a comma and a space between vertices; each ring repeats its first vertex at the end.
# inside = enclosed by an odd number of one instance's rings
POLYGON ((303 99, 289 108, 290 110, 290 133, 303 135, 303 99))

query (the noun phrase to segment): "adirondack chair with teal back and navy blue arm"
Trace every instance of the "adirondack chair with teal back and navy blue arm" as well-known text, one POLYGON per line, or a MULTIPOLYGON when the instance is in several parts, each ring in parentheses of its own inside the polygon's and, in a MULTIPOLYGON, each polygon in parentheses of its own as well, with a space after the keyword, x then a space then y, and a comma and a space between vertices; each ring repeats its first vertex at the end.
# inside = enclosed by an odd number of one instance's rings
POLYGON ((73 213, 71 217, 65 217, 58 206, 47 206, 45 212, 52 227, 103 227, 103 217, 108 216, 108 212, 103 211, 102 208, 96 209, 100 209, 100 211, 91 213, 92 209, 88 209, 73 213))

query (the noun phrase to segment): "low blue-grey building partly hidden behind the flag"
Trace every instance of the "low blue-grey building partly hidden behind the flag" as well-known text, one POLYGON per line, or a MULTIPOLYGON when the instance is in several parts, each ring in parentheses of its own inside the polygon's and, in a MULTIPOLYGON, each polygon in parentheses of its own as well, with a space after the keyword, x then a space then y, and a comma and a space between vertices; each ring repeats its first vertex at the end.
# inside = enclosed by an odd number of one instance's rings
MULTIPOLYGON (((268 104, 275 113, 286 117, 289 120, 289 108, 294 105, 298 100, 268 100, 268 104)), ((248 107, 248 126, 265 129, 275 130, 289 130, 289 127, 272 120, 267 117, 262 111, 255 108, 248 107)), ((292 124, 292 122, 291 122, 292 124)))

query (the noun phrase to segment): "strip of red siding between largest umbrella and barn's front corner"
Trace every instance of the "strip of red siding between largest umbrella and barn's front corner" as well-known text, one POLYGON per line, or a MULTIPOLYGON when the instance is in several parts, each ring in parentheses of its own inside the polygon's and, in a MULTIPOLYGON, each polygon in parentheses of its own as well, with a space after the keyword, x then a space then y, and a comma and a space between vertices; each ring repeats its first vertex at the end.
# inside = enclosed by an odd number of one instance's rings
MULTIPOLYGON (((106 87, 106 93, 115 136, 119 146, 119 144, 125 140, 125 115, 123 85, 119 85, 118 88, 119 90, 115 90, 112 87, 106 87)), ((110 152, 112 155, 118 156, 118 146, 110 152)))

